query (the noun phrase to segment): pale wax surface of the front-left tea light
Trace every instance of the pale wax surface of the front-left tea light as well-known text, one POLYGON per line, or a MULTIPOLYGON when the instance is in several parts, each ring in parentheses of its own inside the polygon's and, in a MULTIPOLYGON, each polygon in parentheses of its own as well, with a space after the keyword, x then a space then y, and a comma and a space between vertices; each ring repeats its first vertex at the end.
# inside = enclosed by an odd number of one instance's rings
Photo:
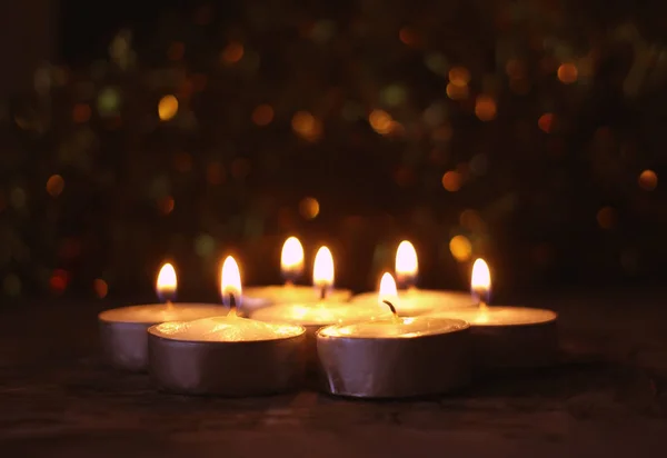
POLYGON ((201 318, 193 321, 163 322, 153 328, 153 333, 173 340, 241 342, 296 337, 303 333, 303 328, 295 325, 262 322, 230 315, 228 317, 201 318))

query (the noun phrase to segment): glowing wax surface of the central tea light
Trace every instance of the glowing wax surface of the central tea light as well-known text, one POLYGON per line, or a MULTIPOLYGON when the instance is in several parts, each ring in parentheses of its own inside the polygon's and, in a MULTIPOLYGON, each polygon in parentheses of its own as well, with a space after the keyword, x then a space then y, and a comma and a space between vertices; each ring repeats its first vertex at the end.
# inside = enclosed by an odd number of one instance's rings
POLYGON ((282 321, 302 326, 323 326, 372 320, 391 313, 376 303, 369 307, 361 303, 322 301, 318 303, 282 303, 257 310, 252 319, 282 321))

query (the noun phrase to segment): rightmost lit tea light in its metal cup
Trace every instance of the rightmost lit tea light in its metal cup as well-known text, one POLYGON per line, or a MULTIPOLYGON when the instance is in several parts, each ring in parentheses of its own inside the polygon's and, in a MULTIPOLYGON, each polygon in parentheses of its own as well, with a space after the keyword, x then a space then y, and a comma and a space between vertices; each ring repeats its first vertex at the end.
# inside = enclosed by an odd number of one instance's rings
POLYGON ((558 358, 557 313, 547 309, 487 306, 491 275, 484 259, 472 266, 471 289, 482 300, 477 308, 448 310, 435 317, 470 323, 476 361, 481 368, 540 367, 558 358))

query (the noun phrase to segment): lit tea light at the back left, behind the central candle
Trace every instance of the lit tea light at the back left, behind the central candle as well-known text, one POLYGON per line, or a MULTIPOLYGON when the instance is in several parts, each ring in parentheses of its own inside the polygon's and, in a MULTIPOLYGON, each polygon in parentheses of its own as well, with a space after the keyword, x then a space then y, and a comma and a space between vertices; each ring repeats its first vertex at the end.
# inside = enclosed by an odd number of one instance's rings
MULTIPOLYGON (((307 303, 320 300, 321 290, 295 285, 303 273, 303 247, 296 237, 289 237, 282 245, 280 270, 285 278, 285 285, 246 288, 243 312, 251 313, 261 307, 276 303, 307 303)), ((352 295, 348 289, 334 289, 334 283, 326 290, 326 293, 327 299, 332 301, 347 301, 352 295)))

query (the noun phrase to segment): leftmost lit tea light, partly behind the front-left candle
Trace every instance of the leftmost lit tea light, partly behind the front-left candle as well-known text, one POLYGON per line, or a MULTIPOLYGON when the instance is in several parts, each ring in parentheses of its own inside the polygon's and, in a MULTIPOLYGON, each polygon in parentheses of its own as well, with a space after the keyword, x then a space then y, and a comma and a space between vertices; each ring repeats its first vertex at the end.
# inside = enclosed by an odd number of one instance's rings
POLYGON ((148 335, 146 330, 169 320, 193 320, 223 313, 211 303, 172 303, 177 277, 173 266, 166 263, 158 275, 158 296, 166 303, 121 307, 98 316, 100 338, 106 359, 111 366, 126 370, 143 370, 148 365, 148 335))

